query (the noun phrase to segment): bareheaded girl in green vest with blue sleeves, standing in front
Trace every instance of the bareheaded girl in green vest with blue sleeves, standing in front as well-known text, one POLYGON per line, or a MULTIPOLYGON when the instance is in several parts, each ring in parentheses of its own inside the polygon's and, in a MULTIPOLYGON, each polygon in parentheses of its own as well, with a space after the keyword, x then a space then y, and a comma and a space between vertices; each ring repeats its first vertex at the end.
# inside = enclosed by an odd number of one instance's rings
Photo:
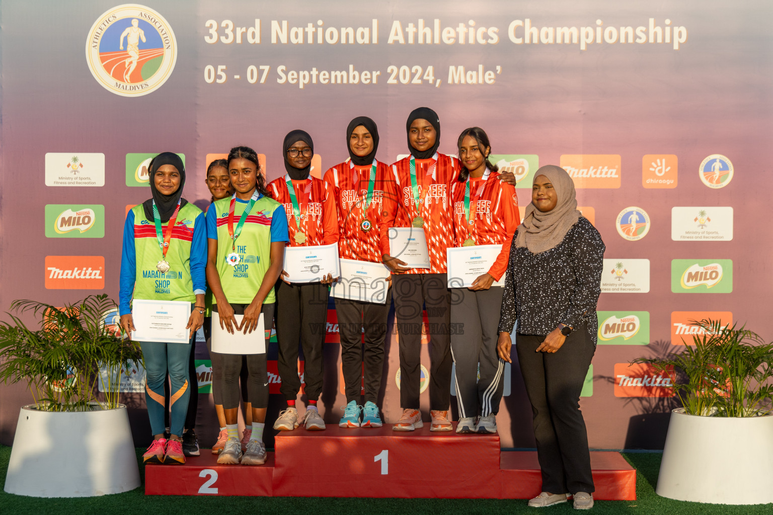
MULTIPOLYGON (((288 221, 284 206, 267 196, 257 154, 250 147, 233 147, 228 171, 236 192, 216 200, 206 217, 209 241, 206 279, 213 294, 213 325, 233 334, 250 334, 261 313, 264 327, 274 318, 274 284, 284 262, 288 221), (237 322, 235 315, 242 315, 237 322), (219 320, 219 322, 215 322, 219 320)), ((213 331, 216 327, 213 327, 213 331)), ((256 334, 255 337, 265 337, 256 334)), ((268 339, 266 338, 266 347, 268 339)), ((213 353, 215 354, 215 353, 213 353)), ((247 397, 252 403, 252 434, 242 457, 237 425, 240 354, 220 354, 223 363, 223 412, 228 439, 217 458, 221 464, 262 465, 266 462, 263 429, 268 407, 266 354, 247 355, 247 397)))

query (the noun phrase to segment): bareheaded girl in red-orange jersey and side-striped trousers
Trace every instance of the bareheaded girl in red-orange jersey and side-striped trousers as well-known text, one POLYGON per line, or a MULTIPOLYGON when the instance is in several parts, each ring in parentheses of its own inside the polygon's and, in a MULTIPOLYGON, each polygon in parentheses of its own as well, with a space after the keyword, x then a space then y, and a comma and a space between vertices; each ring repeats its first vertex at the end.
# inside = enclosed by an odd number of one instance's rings
POLYGON ((500 245, 502 250, 488 273, 478 276, 469 288, 454 288, 451 293, 451 320, 462 329, 451 334, 459 408, 456 432, 492 433, 505 368, 496 353, 504 288, 495 282, 507 269, 512 234, 520 219, 518 198, 516 188, 497 180, 499 171, 489 162, 491 145, 482 128, 462 130, 457 147, 462 168, 450 185, 454 246, 500 245))

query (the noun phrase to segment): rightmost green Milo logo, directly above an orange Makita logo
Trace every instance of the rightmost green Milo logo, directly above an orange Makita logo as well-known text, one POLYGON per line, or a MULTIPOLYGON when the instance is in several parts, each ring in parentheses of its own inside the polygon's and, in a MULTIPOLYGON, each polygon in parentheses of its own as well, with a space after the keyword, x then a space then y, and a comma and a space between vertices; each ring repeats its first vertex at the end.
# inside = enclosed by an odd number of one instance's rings
POLYGON ((673 293, 732 293, 732 259, 672 259, 673 293))

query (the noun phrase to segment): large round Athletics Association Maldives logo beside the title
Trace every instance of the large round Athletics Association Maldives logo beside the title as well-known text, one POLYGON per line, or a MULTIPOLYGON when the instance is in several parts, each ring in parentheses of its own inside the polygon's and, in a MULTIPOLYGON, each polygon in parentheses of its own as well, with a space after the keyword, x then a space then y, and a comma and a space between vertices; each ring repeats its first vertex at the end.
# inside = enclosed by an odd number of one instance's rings
POLYGON ((175 33, 152 8, 118 5, 91 25, 86 61, 94 79, 106 90, 122 97, 141 97, 161 87, 175 69, 175 33))

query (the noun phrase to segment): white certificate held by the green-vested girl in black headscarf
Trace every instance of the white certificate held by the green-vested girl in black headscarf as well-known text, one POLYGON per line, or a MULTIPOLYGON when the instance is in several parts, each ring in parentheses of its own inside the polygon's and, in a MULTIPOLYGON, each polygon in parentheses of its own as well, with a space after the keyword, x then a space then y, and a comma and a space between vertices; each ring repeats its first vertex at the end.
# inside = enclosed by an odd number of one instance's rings
POLYGON ((160 341, 165 344, 187 344, 190 330, 186 329, 191 316, 191 303, 182 300, 143 300, 131 302, 131 318, 135 341, 160 341))

